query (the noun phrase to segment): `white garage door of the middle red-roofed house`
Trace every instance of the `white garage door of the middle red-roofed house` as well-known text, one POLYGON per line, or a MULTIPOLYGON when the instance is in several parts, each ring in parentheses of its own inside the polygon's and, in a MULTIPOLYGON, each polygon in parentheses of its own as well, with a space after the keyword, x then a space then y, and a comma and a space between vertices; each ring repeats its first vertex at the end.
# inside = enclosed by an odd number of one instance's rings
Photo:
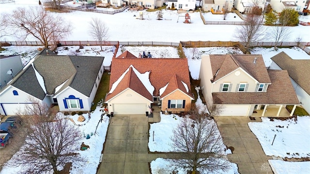
POLYGON ((115 114, 144 114, 146 112, 145 103, 137 104, 113 104, 113 111, 115 114))

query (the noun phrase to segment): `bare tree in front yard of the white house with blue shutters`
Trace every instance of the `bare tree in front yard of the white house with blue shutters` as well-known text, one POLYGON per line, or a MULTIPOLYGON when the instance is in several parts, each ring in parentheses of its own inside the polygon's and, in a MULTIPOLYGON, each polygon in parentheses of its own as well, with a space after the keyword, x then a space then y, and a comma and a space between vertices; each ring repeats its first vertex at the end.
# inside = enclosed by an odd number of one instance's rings
MULTIPOLYGON (((67 163, 84 161, 76 152, 82 138, 78 127, 69 119, 49 112, 48 107, 38 109, 40 102, 34 101, 25 112, 33 115, 24 119, 26 134, 24 145, 9 161, 9 165, 22 165, 22 173, 42 174, 53 171, 59 174, 67 163), (30 109, 30 110, 29 110, 30 109), (46 115, 41 115, 45 112, 46 115)), ((18 136, 18 135, 16 135, 18 136)))

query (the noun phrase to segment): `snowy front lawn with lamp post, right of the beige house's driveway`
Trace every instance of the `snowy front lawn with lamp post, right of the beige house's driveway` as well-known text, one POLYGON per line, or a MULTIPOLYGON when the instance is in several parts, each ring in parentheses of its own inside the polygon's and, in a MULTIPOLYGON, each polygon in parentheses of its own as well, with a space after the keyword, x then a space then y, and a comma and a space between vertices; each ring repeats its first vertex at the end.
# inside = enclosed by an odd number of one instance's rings
POLYGON ((310 157, 310 116, 297 116, 297 121, 294 118, 271 121, 262 117, 262 121, 249 122, 248 127, 256 135, 266 155, 281 158, 310 157))

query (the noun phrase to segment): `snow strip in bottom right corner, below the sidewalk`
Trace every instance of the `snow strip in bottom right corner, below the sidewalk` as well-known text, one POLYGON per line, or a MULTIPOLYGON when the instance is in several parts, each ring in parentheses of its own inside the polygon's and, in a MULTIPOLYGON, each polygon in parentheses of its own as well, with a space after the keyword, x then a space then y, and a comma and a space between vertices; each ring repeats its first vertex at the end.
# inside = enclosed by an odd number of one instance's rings
POLYGON ((309 174, 310 161, 268 160, 274 174, 309 174))

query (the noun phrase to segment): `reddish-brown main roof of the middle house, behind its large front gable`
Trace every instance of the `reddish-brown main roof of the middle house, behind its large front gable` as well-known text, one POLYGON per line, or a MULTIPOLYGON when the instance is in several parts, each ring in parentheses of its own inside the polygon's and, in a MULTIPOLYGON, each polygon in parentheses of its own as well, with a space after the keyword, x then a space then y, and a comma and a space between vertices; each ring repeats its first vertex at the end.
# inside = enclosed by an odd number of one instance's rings
MULTIPOLYGON (((123 53, 124 54, 124 53, 123 53)), ((123 55, 122 54, 122 55, 123 55)), ((129 52, 126 53, 129 56, 129 52)), ((131 54, 132 55, 132 54, 131 54)), ((111 63, 111 76, 109 89, 111 89, 113 83, 119 79, 119 77, 128 69, 130 65, 133 65, 140 73, 150 72, 150 82, 155 87, 154 96, 159 96, 159 89, 166 86, 171 81, 174 75, 177 76, 177 83, 183 81, 187 84, 189 93, 186 92, 184 85, 175 85, 180 90, 185 91, 187 95, 193 97, 190 89, 189 71, 186 58, 129 58, 117 57, 112 59, 111 63)), ((172 85, 172 84, 171 84, 172 85)), ((139 90, 139 89, 137 89, 139 90)), ((166 89, 167 90, 167 89, 166 89)), ((171 89, 172 90, 172 87, 171 89)), ((113 93, 116 91, 113 91, 113 93)))

